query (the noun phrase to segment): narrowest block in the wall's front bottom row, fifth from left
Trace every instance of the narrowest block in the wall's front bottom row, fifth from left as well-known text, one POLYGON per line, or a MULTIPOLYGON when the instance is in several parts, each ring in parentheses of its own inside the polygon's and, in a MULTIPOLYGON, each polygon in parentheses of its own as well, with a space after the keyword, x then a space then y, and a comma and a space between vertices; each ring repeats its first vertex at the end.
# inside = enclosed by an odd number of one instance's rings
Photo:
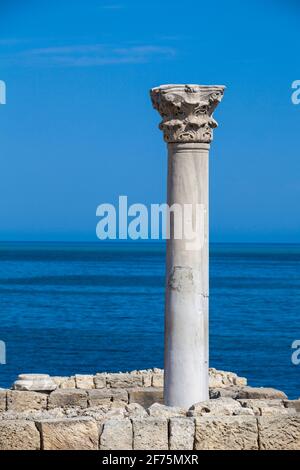
POLYGON ((192 418, 171 418, 169 423, 170 450, 193 450, 195 421, 192 418))

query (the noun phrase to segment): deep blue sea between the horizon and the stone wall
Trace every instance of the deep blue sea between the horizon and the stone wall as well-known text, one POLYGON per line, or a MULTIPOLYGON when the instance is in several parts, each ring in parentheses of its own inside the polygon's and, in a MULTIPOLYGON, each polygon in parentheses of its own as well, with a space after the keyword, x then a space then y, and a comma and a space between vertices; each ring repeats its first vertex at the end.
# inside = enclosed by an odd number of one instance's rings
MULTIPOLYGON (((300 245, 212 245, 210 363, 300 396, 300 245)), ((0 387, 163 367, 164 245, 0 244, 0 387)))

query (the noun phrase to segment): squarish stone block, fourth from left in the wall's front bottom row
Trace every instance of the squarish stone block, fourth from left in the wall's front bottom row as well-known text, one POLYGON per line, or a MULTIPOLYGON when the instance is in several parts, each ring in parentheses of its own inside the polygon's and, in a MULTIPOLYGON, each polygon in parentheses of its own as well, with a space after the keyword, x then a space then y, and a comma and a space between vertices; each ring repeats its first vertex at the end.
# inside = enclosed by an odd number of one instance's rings
POLYGON ((133 419, 134 450, 168 450, 168 421, 164 418, 133 419))

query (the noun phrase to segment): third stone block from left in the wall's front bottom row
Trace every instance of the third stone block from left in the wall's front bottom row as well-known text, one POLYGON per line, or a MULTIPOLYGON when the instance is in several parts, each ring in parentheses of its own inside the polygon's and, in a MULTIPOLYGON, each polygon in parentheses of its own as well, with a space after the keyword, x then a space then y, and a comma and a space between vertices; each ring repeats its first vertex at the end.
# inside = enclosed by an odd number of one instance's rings
POLYGON ((105 421, 100 437, 101 450, 132 450, 132 424, 130 419, 105 421))

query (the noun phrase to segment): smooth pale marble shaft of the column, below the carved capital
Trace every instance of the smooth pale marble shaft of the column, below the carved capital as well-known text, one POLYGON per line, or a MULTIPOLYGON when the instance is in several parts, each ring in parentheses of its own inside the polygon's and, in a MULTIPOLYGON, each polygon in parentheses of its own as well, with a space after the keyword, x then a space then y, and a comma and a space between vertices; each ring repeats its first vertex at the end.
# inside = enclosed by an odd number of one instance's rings
POLYGON ((209 144, 168 144, 169 207, 190 204, 193 229, 203 241, 167 241, 165 304, 165 403, 189 407, 208 399, 208 154, 209 144), (203 208, 203 212, 197 207, 203 208), (204 232, 204 233, 203 233, 204 232))

